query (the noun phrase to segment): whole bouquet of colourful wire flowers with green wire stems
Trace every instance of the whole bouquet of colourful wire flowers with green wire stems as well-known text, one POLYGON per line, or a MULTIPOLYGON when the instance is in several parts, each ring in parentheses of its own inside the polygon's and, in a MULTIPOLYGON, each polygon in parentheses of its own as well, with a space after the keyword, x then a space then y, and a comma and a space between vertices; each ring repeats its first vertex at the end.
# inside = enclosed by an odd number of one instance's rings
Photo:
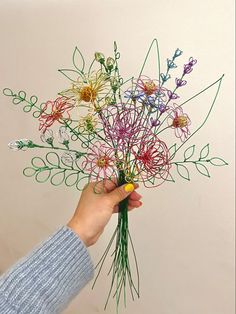
MULTIPOLYGON (((168 83, 181 55, 182 51, 176 49, 173 57, 167 59, 166 71, 162 73, 158 42, 154 39, 139 75, 124 80, 118 66, 120 53, 116 43, 114 56, 105 57, 96 52, 89 67, 85 66, 84 57, 76 47, 72 68, 59 70, 69 84, 55 100, 39 104, 36 96, 27 98, 24 91, 14 93, 5 88, 3 93, 12 98, 13 104, 22 104, 23 110, 31 112, 37 119, 42 141, 19 139, 10 142, 9 147, 21 151, 30 148, 49 151, 45 157, 34 157, 31 166, 24 169, 24 175, 35 177, 40 183, 65 183, 79 190, 90 181, 102 182, 105 186, 107 180, 119 186, 141 182, 145 187, 157 187, 166 181, 175 181, 174 169, 183 179, 190 180, 191 165, 207 177, 210 176, 208 165, 226 165, 221 158, 209 157, 209 144, 203 146, 196 157, 195 145, 191 145, 186 147, 181 160, 175 158, 176 153, 206 123, 223 79, 221 76, 191 98, 179 102, 179 92, 186 86, 197 63, 191 57, 183 64, 179 76, 174 76, 171 90, 168 83), (155 49, 157 55, 155 78, 143 74, 151 49, 155 49), (183 105, 213 86, 216 92, 209 110, 198 128, 191 130, 191 121, 183 105), (58 129, 55 131, 53 128, 58 129), (165 134, 169 135, 167 140, 164 140, 165 134)), ((121 295, 126 304, 127 286, 133 299, 135 295, 139 296, 138 264, 128 227, 127 199, 119 204, 118 224, 97 264, 97 276, 113 243, 115 248, 109 271, 111 288, 105 308, 110 296, 116 298, 117 308, 121 295), (134 257, 133 264, 130 253, 134 257), (132 268, 135 268, 135 275, 132 268)))

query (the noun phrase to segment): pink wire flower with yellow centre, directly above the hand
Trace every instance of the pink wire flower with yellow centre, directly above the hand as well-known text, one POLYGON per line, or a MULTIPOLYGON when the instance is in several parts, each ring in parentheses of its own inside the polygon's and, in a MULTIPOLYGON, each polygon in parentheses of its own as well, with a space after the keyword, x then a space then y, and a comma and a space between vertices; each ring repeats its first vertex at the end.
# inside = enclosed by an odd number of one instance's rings
POLYGON ((95 142, 88 148, 82 169, 96 180, 111 178, 116 169, 114 148, 106 147, 100 141, 95 142))

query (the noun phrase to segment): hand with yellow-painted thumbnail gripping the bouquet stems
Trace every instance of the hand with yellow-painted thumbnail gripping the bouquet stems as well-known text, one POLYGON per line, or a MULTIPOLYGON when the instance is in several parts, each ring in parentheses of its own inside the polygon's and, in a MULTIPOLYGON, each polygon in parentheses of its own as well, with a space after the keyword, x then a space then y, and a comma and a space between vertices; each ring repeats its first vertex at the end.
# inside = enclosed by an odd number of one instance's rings
POLYGON ((129 211, 142 205, 142 196, 135 191, 137 188, 138 184, 130 183, 117 187, 109 180, 89 183, 67 226, 79 235, 86 246, 95 244, 111 215, 118 212, 120 201, 129 196, 129 211))

